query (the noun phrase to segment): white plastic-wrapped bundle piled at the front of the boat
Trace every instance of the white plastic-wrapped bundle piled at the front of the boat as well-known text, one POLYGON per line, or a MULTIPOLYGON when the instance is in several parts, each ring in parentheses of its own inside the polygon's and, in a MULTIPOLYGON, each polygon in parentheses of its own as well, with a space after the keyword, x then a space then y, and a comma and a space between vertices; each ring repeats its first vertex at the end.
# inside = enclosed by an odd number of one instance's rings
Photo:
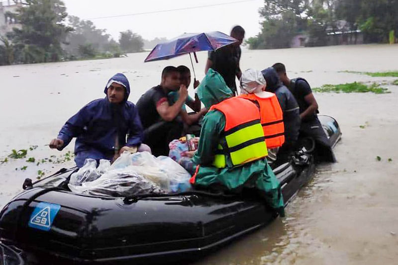
POLYGON ((124 197, 147 193, 184 192, 191 188, 191 175, 167 156, 155 157, 148 152, 124 152, 112 165, 87 159, 72 174, 70 190, 98 196, 124 197))

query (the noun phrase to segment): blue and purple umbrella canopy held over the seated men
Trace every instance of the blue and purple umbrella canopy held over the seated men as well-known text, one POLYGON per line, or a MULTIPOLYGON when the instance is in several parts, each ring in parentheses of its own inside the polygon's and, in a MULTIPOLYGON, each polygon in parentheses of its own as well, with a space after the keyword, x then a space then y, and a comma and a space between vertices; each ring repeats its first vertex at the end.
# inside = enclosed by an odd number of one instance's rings
POLYGON ((144 62, 167 60, 199 51, 215 51, 234 42, 237 40, 219 31, 185 33, 168 42, 156 45, 144 62))

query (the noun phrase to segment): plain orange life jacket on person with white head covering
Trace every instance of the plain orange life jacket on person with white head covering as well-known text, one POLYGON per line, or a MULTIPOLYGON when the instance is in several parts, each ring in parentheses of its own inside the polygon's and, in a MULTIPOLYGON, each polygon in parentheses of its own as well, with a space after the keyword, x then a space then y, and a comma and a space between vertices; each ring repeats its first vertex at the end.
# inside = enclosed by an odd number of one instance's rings
POLYGON ((278 98, 271 92, 244 94, 239 97, 257 101, 260 106, 261 125, 268 148, 280 147, 285 142, 283 112, 278 98))

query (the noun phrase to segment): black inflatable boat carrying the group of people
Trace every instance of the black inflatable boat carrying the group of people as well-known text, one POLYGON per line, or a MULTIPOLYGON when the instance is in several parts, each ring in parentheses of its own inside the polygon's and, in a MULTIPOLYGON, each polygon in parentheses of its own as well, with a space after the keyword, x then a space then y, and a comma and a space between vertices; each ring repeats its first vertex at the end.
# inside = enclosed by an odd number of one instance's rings
MULTIPOLYGON (((341 137, 337 122, 328 116, 319 119, 334 146, 341 137)), ((25 181, 24 191, 3 207, 2 249, 18 256, 7 264, 23 264, 20 258, 25 264, 46 265, 195 260, 276 217, 258 200, 205 192, 131 198, 76 195, 65 185, 73 171, 62 169, 33 185, 25 181)), ((313 171, 313 157, 305 152, 274 169, 285 204, 313 171)))

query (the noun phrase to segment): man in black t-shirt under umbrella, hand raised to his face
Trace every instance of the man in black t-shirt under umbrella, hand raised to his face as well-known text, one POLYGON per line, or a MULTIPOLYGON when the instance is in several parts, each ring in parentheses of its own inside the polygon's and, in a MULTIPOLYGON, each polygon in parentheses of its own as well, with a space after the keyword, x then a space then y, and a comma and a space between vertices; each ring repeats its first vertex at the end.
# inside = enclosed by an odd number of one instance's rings
POLYGON ((188 96, 187 86, 180 84, 177 67, 166 66, 161 83, 146 91, 137 101, 137 110, 144 127, 143 142, 155 156, 168 155, 169 142, 180 138, 183 121, 179 114, 188 96), (170 102, 168 94, 178 91, 176 102, 170 102))

